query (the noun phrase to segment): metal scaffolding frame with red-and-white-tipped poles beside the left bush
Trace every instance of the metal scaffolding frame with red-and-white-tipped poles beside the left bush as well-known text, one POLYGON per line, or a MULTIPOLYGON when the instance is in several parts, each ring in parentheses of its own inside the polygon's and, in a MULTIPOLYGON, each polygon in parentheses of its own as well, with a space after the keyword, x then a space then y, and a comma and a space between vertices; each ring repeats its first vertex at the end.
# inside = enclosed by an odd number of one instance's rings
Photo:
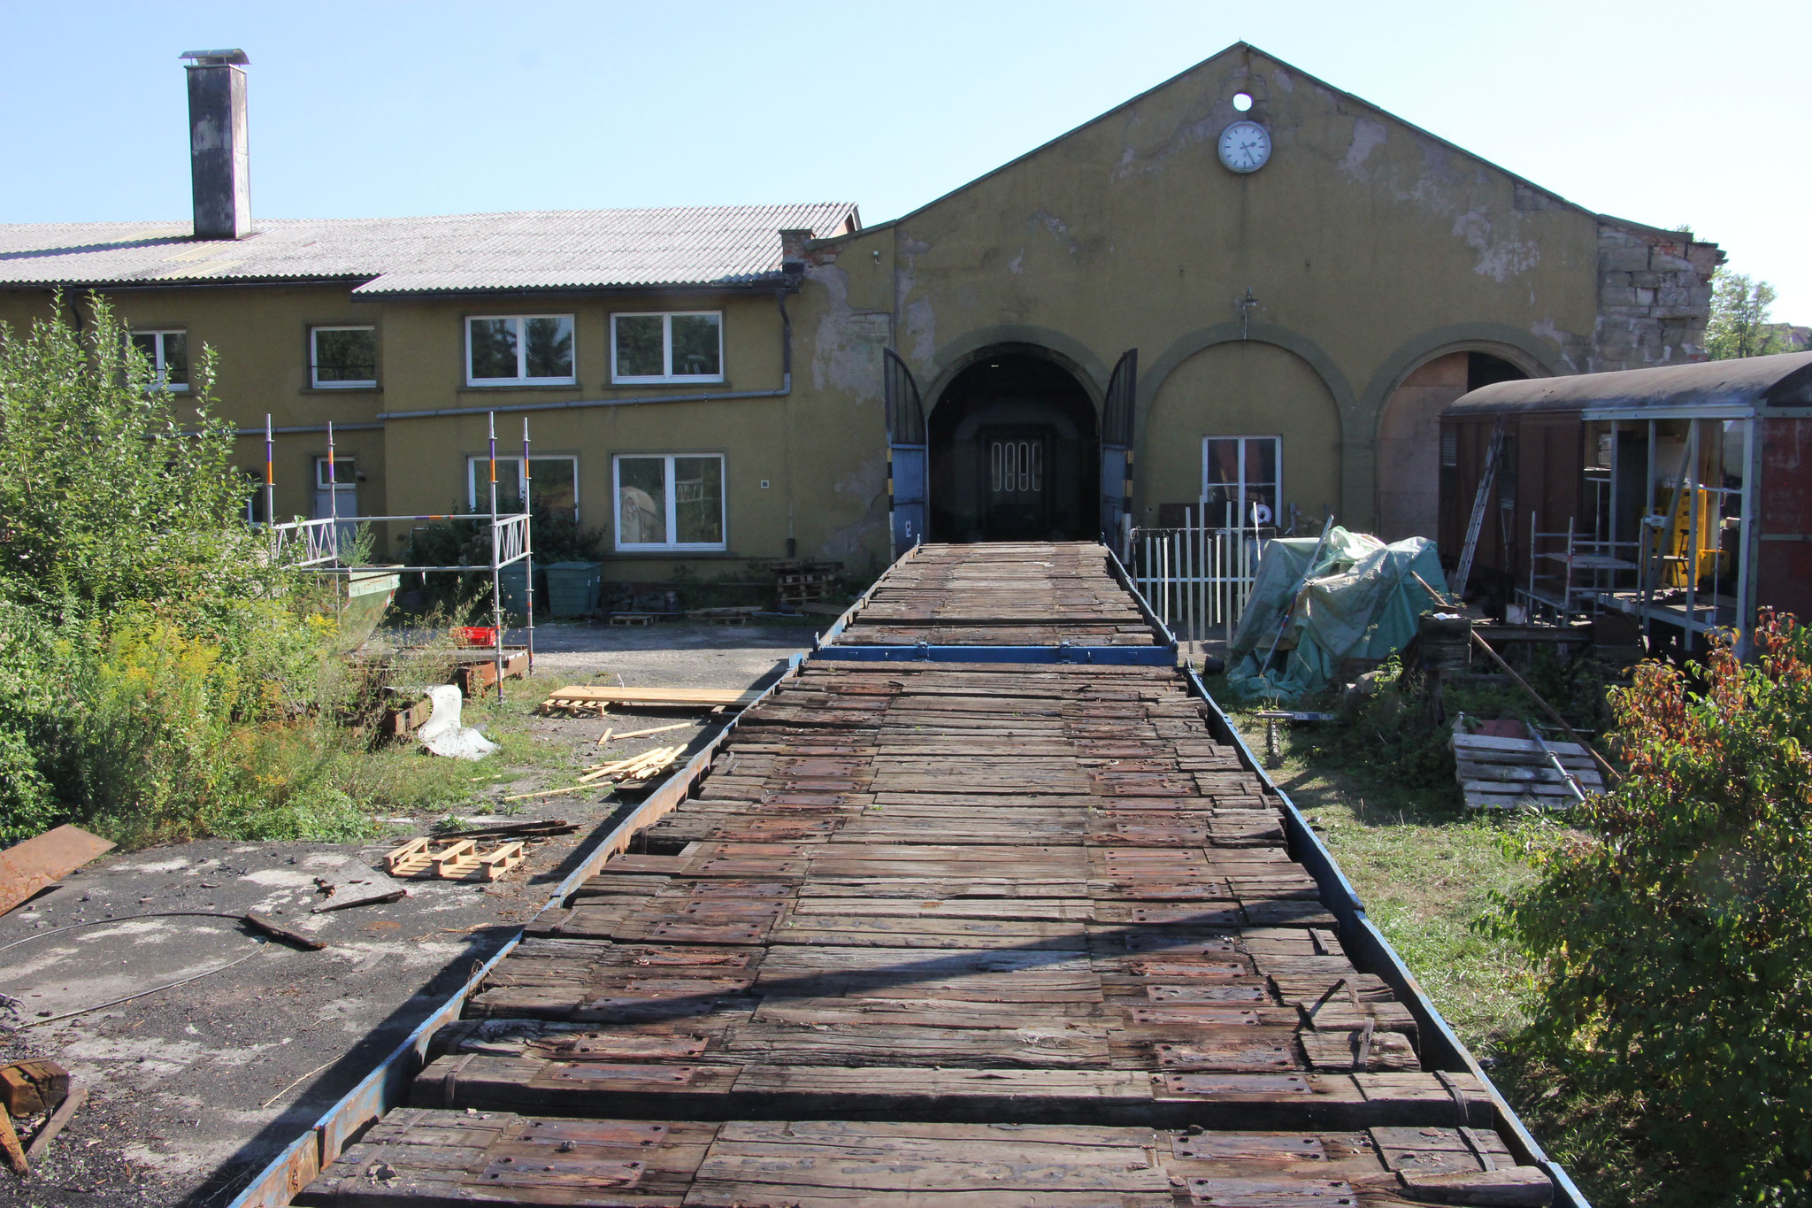
MULTIPOLYGON (((489 574, 491 576, 491 639, 496 670, 496 699, 504 699, 504 567, 522 563, 524 616, 527 619, 527 674, 535 674, 535 549, 529 522, 529 420, 522 420, 522 507, 520 513, 496 511, 496 413, 489 417, 491 511, 442 516, 341 516, 339 478, 335 476, 333 424, 328 424, 328 514, 313 520, 270 523, 277 516, 275 442, 270 415, 265 415, 265 518, 270 536, 270 558, 275 561, 295 551, 288 565, 315 574, 344 574, 348 585, 359 572, 384 574, 489 574), (435 523, 435 522, 489 522, 491 560, 477 565, 399 565, 399 563, 341 563, 341 527, 362 523, 435 523), (301 549, 297 549, 301 547, 301 549)), ((426 580, 424 580, 426 581, 426 580)))

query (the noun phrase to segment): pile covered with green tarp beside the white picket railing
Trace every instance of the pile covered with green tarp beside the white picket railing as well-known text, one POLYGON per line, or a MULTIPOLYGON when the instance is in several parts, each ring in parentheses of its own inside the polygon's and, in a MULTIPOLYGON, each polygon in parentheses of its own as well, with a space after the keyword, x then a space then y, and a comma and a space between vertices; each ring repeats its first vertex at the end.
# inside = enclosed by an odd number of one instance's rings
POLYGON ((1241 697, 1294 699, 1326 686, 1345 659, 1386 659, 1415 636, 1417 618, 1442 609, 1415 576, 1444 592, 1435 543, 1393 545, 1364 532, 1265 545, 1239 628, 1227 648, 1227 683, 1241 697))

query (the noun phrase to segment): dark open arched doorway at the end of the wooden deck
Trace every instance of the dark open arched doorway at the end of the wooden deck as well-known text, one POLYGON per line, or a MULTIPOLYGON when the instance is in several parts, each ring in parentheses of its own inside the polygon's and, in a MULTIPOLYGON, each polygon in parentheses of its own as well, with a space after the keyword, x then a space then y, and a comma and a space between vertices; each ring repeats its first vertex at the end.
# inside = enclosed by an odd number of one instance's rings
POLYGON ((931 540, 1046 542, 1100 529, 1094 404, 1062 366, 1000 348, 931 409, 931 540))

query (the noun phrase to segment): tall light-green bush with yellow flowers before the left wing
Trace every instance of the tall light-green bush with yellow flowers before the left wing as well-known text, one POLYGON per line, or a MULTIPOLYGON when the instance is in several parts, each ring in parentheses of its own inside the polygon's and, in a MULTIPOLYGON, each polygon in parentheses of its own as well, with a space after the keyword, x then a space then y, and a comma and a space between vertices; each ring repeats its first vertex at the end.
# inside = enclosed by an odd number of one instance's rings
POLYGON ((0 842, 352 833, 317 724, 333 623, 245 523, 212 375, 170 395, 105 301, 82 331, 0 324, 0 842))

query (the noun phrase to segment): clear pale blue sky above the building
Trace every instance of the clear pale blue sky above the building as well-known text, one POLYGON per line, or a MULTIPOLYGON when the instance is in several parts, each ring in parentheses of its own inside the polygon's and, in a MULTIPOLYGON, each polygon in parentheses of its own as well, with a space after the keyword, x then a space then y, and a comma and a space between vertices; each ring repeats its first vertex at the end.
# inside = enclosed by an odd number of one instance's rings
POLYGON ((1812 322, 1788 4, 0 2, 0 221, 188 214, 178 53, 252 58, 268 217, 910 210, 1247 40, 1595 210, 1691 223, 1812 322))

